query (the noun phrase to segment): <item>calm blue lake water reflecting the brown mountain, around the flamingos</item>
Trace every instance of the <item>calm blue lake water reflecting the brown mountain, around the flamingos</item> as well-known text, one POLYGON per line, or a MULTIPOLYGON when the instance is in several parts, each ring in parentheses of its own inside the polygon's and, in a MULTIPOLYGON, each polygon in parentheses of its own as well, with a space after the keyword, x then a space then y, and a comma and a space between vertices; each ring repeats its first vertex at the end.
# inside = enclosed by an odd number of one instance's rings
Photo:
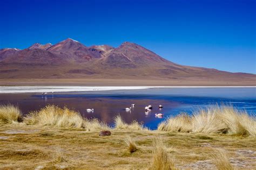
POLYGON ((0 94, 0 104, 18 105, 24 114, 38 110, 47 104, 67 106, 79 111, 86 118, 98 118, 112 125, 113 117, 120 114, 130 123, 132 120, 143 122, 145 126, 155 129, 157 125, 170 115, 179 112, 192 113, 209 104, 225 103, 249 114, 256 113, 256 88, 154 88, 144 90, 116 90, 92 92, 65 92, 46 96, 41 93, 0 94), (124 109, 136 104, 131 112, 124 109), (158 105, 164 108, 159 110, 158 105), (144 107, 152 105, 153 110, 145 113, 144 107), (94 108, 87 113, 86 108, 94 108), (155 113, 164 113, 163 118, 156 118, 155 113))

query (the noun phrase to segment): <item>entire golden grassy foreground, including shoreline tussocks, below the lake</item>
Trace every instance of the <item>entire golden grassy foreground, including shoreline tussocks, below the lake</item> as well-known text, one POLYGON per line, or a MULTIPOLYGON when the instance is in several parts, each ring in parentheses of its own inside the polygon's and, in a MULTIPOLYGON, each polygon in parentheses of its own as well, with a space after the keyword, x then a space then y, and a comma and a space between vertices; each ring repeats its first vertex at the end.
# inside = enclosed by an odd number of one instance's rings
MULTIPOLYGON (((116 117, 116 128, 110 128, 98 120, 83 119, 68 108, 47 106, 22 117, 17 107, 1 106, 0 168, 255 169, 255 119, 248 117, 250 127, 235 118, 226 122, 220 117, 222 109, 186 115, 182 125, 189 131, 181 131, 179 124, 170 122, 178 118, 150 131, 136 121, 126 124, 120 117, 116 117), (196 119, 202 114, 203 119, 196 119), (216 122, 220 131, 196 131, 201 126, 212 129, 211 123, 217 126, 216 122), (112 134, 101 137, 100 130, 112 134)), ((237 111, 234 115, 245 117, 237 111)))

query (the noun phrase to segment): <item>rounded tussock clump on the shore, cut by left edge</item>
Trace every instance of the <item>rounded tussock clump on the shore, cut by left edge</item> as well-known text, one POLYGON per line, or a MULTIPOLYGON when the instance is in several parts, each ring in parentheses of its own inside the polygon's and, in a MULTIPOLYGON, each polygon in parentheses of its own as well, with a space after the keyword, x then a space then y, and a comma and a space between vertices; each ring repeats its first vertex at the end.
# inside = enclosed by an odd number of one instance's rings
POLYGON ((22 121, 22 113, 17 106, 0 105, 0 124, 12 124, 20 121, 22 121))

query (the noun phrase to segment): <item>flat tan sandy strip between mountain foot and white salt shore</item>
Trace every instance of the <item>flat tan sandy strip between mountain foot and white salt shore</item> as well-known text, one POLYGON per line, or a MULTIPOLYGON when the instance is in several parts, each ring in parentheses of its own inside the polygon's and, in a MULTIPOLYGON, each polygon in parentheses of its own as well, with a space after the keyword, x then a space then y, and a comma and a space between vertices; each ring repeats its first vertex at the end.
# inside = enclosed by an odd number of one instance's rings
POLYGON ((168 79, 0 79, 0 86, 256 86, 256 81, 168 79))

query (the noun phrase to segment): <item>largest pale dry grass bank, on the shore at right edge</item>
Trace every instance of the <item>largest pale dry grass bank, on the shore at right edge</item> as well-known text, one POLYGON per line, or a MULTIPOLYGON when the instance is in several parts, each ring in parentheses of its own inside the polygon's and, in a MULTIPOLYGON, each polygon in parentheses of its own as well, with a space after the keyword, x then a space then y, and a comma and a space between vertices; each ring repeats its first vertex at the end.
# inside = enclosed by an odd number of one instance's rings
POLYGON ((256 136, 256 121, 248 113, 239 112, 231 106, 210 106, 193 112, 189 117, 180 114, 159 124, 158 130, 194 133, 227 133, 232 135, 256 136))

